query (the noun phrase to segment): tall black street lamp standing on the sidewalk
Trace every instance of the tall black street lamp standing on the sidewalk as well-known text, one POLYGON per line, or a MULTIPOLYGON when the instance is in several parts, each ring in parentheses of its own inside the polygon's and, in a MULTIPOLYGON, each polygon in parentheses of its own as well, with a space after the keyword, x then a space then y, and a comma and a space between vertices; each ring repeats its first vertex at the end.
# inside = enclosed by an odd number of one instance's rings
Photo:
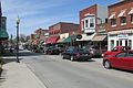
POLYGON ((20 24, 20 18, 17 18, 17 62, 20 63, 19 61, 19 24, 20 24))

